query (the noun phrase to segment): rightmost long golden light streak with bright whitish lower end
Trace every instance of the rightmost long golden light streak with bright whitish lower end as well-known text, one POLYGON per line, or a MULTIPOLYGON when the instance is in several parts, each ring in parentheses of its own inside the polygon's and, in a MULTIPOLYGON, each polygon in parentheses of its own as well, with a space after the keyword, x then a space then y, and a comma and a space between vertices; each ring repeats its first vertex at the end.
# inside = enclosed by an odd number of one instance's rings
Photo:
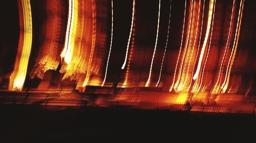
POLYGON ((240 8, 239 8, 239 15, 238 15, 237 28, 236 28, 236 34, 234 36, 233 47, 232 47, 232 51, 231 51, 231 54, 230 54, 230 58, 228 60, 225 80, 224 80, 223 84, 221 85, 221 89, 222 89, 223 93, 225 93, 226 90, 227 90, 231 68, 232 68, 233 61, 234 61, 234 58, 235 58, 236 52, 237 52, 241 22, 242 22, 242 17, 243 17, 243 9, 244 9, 244 0, 241 0, 240 8), (227 76, 227 78, 226 78, 226 76, 227 76))

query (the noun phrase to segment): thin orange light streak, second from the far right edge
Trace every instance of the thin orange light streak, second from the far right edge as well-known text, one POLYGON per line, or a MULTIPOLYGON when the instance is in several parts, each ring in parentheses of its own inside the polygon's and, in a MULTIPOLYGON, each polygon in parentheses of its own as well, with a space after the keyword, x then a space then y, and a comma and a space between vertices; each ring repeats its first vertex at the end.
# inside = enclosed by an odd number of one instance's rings
POLYGON ((231 12, 231 18, 230 18, 230 23, 229 23, 229 30, 228 30, 228 37, 227 37, 227 42, 226 42, 226 46, 225 46, 225 51, 224 51, 223 58, 222 58, 222 61, 221 61, 221 67, 220 67, 220 70, 219 70, 218 79, 217 79, 217 81, 215 83, 215 86, 214 86, 215 93, 218 93, 218 91, 220 89, 219 81, 220 81, 220 75, 221 75, 221 72, 222 72, 222 65, 223 65, 223 62, 224 62, 224 58, 226 57, 226 51, 227 51, 228 45, 229 45, 229 37, 230 37, 231 25, 232 25, 233 14, 234 14, 234 6, 235 6, 234 2, 235 2, 235 0, 233 0, 233 5, 232 5, 232 12, 231 12), (218 85, 218 88, 216 88, 217 85, 218 85))

